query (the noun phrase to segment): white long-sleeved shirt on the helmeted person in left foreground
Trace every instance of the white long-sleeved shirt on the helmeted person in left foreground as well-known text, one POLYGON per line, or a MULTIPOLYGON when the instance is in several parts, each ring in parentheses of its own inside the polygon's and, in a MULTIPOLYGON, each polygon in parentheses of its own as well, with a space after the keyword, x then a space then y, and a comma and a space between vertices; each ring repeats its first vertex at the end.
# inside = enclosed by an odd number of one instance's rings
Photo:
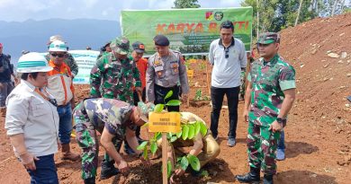
MULTIPOLYGON (((34 156, 57 153, 58 110, 34 90, 21 80, 9 94, 4 127, 8 136, 23 134, 27 152, 34 156)), ((14 153, 18 156, 15 149, 14 153)))

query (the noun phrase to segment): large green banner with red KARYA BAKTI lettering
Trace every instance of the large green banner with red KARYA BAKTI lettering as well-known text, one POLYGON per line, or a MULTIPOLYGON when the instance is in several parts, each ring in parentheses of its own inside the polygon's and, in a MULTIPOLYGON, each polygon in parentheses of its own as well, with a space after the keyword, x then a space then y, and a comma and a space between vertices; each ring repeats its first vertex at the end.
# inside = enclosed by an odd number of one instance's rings
POLYGON ((171 9, 155 11, 121 11, 122 35, 130 43, 145 44, 146 55, 155 53, 153 38, 164 34, 170 48, 186 54, 207 54, 211 41, 220 38, 220 23, 232 21, 234 37, 251 50, 252 7, 225 9, 171 9))

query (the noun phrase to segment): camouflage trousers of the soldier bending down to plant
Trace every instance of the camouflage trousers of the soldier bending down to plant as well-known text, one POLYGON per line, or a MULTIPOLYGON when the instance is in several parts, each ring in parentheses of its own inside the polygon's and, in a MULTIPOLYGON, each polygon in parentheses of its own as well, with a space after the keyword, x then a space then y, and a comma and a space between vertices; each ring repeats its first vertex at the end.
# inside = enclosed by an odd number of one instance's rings
MULTIPOLYGON (((86 114, 83 101, 76 106, 73 117, 75 120, 76 129, 76 143, 82 149, 82 179, 88 179, 96 176, 98 155, 99 155, 99 142, 97 139, 96 131, 102 133, 102 130, 97 130, 96 127, 90 122, 86 114)), ((121 140, 114 137, 112 139, 116 150, 119 152, 121 149, 121 140)), ((110 161, 107 153, 104 156, 105 160, 110 161)))

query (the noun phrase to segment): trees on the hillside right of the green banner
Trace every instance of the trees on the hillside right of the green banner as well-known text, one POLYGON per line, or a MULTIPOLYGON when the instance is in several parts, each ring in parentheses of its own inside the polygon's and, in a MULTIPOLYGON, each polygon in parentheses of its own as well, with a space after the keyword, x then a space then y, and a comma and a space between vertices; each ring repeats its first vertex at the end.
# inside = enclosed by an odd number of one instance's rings
POLYGON ((295 22, 307 22, 319 16, 344 13, 347 11, 346 2, 346 0, 244 0, 241 5, 253 7, 256 17, 253 21, 253 36, 257 37, 257 31, 281 31, 294 26, 295 22))

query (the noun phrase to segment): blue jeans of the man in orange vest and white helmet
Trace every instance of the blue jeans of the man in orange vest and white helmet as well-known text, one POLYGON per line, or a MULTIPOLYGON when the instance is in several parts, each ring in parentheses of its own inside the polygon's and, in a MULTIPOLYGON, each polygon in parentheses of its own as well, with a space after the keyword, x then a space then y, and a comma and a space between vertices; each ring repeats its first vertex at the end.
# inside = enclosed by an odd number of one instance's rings
POLYGON ((58 106, 58 136, 62 145, 69 144, 72 133, 72 109, 71 103, 65 106, 58 106))

